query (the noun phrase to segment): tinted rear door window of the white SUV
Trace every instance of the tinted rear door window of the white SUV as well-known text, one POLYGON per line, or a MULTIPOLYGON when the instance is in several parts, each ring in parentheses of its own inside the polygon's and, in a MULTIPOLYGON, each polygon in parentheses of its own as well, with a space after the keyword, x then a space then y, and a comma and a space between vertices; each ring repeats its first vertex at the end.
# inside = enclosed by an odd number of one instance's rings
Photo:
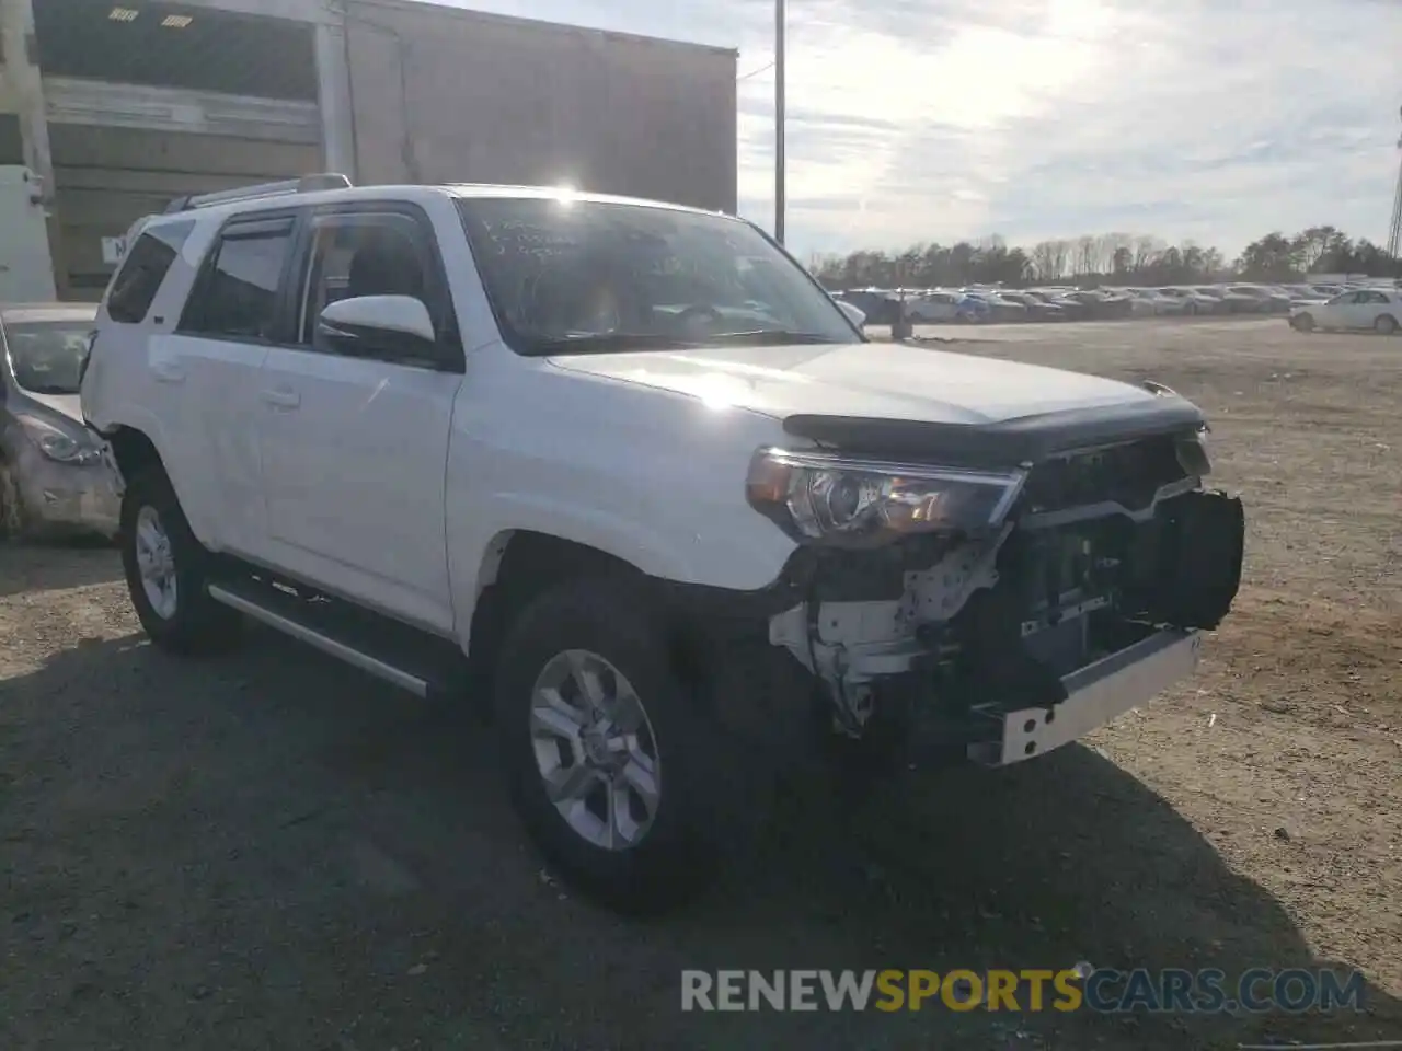
POLYGON ((292 227, 290 219, 227 227, 185 307, 181 331, 236 339, 272 335, 292 227))

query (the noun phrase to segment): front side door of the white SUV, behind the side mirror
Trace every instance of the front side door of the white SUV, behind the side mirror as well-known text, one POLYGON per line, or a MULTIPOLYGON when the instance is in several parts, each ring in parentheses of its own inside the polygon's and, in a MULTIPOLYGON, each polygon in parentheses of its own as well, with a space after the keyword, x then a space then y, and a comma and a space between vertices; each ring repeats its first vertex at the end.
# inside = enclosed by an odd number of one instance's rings
POLYGON ((292 329, 265 356, 257 395, 269 559, 449 632, 444 469, 464 359, 432 224, 407 203, 318 209, 286 294, 292 329), (348 356, 320 331, 328 303, 383 294, 428 305, 439 360, 373 346, 348 356))

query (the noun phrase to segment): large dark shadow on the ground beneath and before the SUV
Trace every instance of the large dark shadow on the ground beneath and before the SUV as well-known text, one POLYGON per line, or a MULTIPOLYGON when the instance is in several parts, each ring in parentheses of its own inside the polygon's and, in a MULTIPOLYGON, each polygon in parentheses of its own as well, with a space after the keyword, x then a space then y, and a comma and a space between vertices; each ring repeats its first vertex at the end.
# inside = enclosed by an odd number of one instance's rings
POLYGON ((29 937, 7 1044, 1166 1051, 1402 1034, 1373 985, 1367 1013, 1333 1017, 680 1010, 684 968, 1325 966, 1280 902, 1089 748, 862 799, 803 776, 712 891, 629 921, 544 872, 463 710, 280 638, 192 663, 133 635, 0 689, 0 905, 29 937))

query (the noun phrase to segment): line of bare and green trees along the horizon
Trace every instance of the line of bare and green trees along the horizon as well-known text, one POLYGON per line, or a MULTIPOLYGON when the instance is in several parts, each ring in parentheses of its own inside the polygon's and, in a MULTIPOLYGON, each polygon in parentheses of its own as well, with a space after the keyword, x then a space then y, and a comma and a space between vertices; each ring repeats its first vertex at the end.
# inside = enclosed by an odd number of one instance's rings
POLYGON ((1332 226, 1286 235, 1273 231, 1227 261, 1216 248, 1157 237, 1101 234, 1012 247, 1001 237, 953 245, 917 244, 899 254, 857 251, 819 255, 809 263, 829 287, 911 287, 962 284, 1207 284, 1223 280, 1293 282, 1309 273, 1402 279, 1402 259, 1367 238, 1332 226))

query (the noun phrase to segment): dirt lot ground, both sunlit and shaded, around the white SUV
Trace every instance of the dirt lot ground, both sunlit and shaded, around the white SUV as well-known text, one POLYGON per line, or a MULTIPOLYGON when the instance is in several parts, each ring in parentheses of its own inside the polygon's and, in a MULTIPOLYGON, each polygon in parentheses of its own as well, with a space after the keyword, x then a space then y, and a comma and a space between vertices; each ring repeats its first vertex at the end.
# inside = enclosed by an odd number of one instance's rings
POLYGON ((864 800, 801 785, 709 895, 622 921, 543 873, 471 720, 276 638, 164 657, 111 552, 0 548, 0 1048, 1402 1040, 1402 339, 973 336, 952 349, 1152 377, 1210 411, 1251 535, 1197 680, 1012 771, 864 800), (680 1012, 683 968, 1081 960, 1357 967, 1367 1010, 680 1012))

